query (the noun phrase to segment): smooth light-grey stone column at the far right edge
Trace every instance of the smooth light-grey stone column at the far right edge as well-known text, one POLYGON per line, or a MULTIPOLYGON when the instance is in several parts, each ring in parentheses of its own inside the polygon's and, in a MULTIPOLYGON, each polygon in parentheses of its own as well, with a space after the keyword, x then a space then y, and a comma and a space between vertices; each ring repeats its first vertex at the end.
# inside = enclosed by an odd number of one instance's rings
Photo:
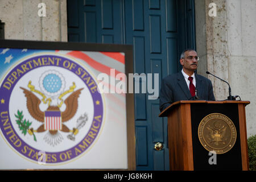
POLYGON ((246 106, 247 135, 256 134, 256 1, 226 1, 229 82, 246 106))

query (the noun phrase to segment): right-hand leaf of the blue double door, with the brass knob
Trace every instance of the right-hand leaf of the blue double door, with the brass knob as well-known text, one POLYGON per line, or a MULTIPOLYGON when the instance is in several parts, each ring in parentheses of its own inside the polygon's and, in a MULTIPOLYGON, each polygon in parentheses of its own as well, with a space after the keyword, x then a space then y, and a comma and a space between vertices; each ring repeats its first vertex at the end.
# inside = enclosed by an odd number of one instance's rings
MULTIPOLYGON (((134 46, 134 70, 139 74, 158 73, 159 89, 163 77, 178 71, 177 21, 176 16, 172 16, 177 12, 176 5, 176 1, 125 1, 126 43, 134 46), (135 14, 135 11, 139 12, 135 14), (140 41, 131 41, 137 39, 140 41)), ((143 155, 142 148, 147 147, 148 152, 148 165, 137 160, 137 169, 168 170, 167 119, 158 117, 159 100, 147 98, 147 94, 146 97, 135 97, 137 115, 141 113, 141 104, 146 103, 146 108, 143 107, 146 117, 135 118, 136 133, 142 127, 147 129, 147 146, 136 144, 138 156, 143 155), (162 150, 154 149, 157 142, 163 143, 162 150)))

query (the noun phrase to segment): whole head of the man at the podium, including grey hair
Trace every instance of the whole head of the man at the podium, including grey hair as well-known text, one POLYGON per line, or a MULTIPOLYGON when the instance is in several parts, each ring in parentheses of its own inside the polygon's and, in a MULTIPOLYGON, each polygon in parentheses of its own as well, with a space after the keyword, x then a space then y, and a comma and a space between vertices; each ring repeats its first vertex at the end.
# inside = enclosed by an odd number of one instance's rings
POLYGON ((193 73, 197 69, 198 60, 199 56, 194 49, 185 49, 180 55, 180 64, 187 74, 193 73))

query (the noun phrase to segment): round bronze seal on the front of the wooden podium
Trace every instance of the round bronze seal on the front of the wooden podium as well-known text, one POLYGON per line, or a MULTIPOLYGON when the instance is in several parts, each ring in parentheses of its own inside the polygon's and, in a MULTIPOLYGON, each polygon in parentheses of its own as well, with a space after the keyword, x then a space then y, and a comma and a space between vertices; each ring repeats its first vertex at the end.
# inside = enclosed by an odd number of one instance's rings
POLYGON ((236 143, 237 130, 224 114, 212 113, 204 117, 198 127, 198 136, 203 147, 216 154, 228 152, 236 143))

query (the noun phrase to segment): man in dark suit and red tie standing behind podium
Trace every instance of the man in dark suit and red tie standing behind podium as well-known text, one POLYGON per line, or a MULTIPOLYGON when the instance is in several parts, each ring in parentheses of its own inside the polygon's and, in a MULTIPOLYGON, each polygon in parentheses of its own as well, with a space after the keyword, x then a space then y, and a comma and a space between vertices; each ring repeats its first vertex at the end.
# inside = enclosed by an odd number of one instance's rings
POLYGON ((215 100, 212 82, 195 73, 198 61, 199 56, 193 49, 185 49, 181 53, 181 72, 168 75, 162 80, 159 94, 160 111, 180 100, 215 100))

